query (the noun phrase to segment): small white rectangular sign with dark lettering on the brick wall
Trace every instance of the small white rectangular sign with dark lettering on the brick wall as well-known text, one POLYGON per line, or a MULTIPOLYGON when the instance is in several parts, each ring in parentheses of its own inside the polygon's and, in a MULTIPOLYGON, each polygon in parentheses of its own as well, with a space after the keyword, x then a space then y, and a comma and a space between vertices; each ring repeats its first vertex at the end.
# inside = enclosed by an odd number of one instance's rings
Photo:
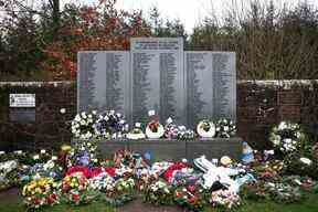
POLYGON ((35 107, 35 94, 10 94, 10 107, 35 107))

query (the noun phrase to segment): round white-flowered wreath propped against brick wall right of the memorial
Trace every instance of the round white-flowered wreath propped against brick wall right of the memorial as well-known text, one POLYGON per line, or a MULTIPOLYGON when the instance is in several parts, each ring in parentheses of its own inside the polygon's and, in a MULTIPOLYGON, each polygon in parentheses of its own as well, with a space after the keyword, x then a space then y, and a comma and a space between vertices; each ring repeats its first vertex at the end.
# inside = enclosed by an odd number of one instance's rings
POLYGON ((305 134, 300 125, 286 121, 273 127, 269 135, 274 148, 284 155, 297 151, 304 138, 305 134))

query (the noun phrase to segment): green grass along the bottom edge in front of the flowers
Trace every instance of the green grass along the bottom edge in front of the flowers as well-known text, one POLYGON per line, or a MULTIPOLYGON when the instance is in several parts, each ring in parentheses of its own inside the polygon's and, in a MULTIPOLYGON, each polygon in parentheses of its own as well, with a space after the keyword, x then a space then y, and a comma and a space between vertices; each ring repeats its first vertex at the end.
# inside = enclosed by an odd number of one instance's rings
MULTIPOLYGON (((22 199, 17 195, 17 190, 9 190, 7 192, 0 193, 0 211, 1 212, 22 212, 25 211, 23 206, 22 199)), ((45 212, 125 212, 125 211, 156 211, 156 212, 178 212, 182 211, 174 208, 156 208, 148 206, 147 204, 138 203, 128 203, 125 206, 113 209, 108 205, 105 205, 103 202, 94 202, 84 206, 70 206, 70 205, 56 205, 44 210, 45 212), (136 206, 137 204, 137 206, 136 206)), ((206 212, 214 212, 213 209, 206 209, 206 212)), ((293 204, 279 204, 275 202, 254 202, 247 201, 243 206, 240 208, 239 212, 318 212, 318 194, 310 194, 307 200, 293 203, 293 204)))

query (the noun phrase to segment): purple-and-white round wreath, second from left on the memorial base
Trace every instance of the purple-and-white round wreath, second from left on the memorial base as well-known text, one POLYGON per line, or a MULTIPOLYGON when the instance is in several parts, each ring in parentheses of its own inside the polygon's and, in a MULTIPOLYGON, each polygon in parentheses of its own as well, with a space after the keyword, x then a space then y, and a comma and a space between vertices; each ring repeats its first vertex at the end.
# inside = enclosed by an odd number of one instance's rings
POLYGON ((123 138, 128 125, 124 116, 115 110, 105 112, 98 116, 95 126, 95 134, 104 138, 123 138))

